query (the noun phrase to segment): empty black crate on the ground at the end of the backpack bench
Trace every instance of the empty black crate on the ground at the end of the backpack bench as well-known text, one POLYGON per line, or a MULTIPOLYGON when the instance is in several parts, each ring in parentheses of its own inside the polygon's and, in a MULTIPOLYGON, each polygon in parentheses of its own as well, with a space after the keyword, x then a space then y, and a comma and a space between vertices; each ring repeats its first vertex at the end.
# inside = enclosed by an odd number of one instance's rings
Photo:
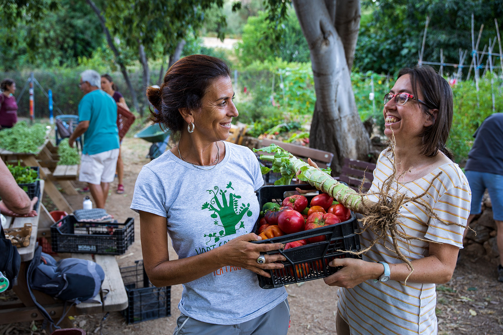
POLYGON ((171 316, 171 286, 154 287, 148 280, 143 261, 120 268, 129 306, 121 311, 127 323, 171 316))

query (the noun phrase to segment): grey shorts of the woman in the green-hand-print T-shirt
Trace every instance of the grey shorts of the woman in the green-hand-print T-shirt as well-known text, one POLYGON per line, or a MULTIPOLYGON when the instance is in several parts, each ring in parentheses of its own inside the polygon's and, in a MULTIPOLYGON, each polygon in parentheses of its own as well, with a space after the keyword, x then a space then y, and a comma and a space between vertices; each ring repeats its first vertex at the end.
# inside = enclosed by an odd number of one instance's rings
POLYGON ((287 299, 276 307, 238 324, 213 324, 180 314, 173 335, 286 335, 290 323, 290 305, 287 299))

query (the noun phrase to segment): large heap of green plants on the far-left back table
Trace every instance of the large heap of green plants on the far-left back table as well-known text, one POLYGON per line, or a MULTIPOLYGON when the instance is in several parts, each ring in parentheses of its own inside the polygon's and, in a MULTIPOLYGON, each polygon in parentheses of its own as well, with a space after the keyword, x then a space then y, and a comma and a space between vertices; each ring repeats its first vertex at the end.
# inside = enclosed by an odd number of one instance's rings
POLYGON ((0 148, 16 153, 38 153, 44 141, 45 127, 41 124, 28 127, 25 121, 20 121, 0 132, 0 148))

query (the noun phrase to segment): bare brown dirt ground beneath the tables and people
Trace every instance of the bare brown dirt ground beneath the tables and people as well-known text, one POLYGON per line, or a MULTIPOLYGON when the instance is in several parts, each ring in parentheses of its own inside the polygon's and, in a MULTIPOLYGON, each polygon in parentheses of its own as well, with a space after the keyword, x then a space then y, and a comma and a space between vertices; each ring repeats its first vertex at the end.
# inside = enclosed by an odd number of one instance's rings
MULTIPOLYGON (((126 138, 123 142, 125 165, 124 194, 116 194, 117 180, 111 185, 111 195, 106 209, 119 221, 127 217, 135 219, 135 242, 123 256, 118 256, 119 266, 133 265, 142 259, 140 243, 139 215, 129 209, 136 177, 142 166, 148 163, 145 154, 149 143, 126 138), (132 254, 132 255, 130 255, 132 254), (125 256, 125 257, 124 257, 125 256)), ((78 183, 77 183, 78 184, 78 183)), ((79 186, 84 186, 79 184, 79 186)), ((68 196, 73 208, 81 208, 83 195, 68 196)), ((170 257, 176 254, 170 242, 170 257)), ((496 282, 493 266, 481 261, 472 262, 467 257, 456 268, 453 279, 437 289, 437 315, 441 335, 496 335, 503 334, 503 283, 496 282), (472 310, 472 312, 470 311, 472 310), (473 315, 473 314, 476 315, 473 315)), ((328 287, 322 280, 309 281, 301 285, 289 285, 291 307, 291 328, 289 335, 335 334, 335 315, 337 311, 337 287, 328 287)), ((171 290, 170 317, 147 320, 136 324, 126 324, 119 312, 112 312, 103 322, 103 334, 172 334, 176 319, 180 315, 177 308, 182 294, 182 285, 171 290)), ((103 314, 76 316, 75 325, 85 329, 88 334, 100 334, 98 329, 103 314)), ((40 325, 40 323, 38 323, 40 325)), ((15 324, 18 334, 31 334, 30 324, 15 324)), ((3 326, 0 325, 0 329, 3 326)), ((16 332, 12 331, 10 334, 16 332)), ((35 334, 40 332, 35 332, 35 334)))

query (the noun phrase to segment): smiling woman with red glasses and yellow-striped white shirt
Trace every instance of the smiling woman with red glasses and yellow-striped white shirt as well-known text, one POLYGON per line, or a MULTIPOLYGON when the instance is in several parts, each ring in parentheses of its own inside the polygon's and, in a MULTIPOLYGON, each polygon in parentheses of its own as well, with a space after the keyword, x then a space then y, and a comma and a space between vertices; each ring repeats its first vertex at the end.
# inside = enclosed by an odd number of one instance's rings
MULTIPOLYGON (((385 149, 374 170, 369 193, 378 192, 387 177, 396 175, 393 193, 415 196, 429 203, 442 219, 429 219, 423 206, 408 202, 399 220, 407 236, 429 242, 398 241, 414 271, 391 251, 388 235, 360 259, 336 259, 330 266, 343 268, 325 278, 339 286, 338 335, 437 334, 435 284, 448 282, 463 247, 464 227, 470 211, 471 192, 463 172, 452 162, 445 147, 453 117, 449 83, 431 67, 400 70, 398 79, 384 96, 384 134, 394 136, 394 156, 385 149), (438 173, 442 174, 435 179, 438 173), (449 225, 451 224, 451 225, 449 225), (454 225, 453 225, 454 224, 454 225)), ((376 195, 367 195, 376 200, 376 195)), ((375 240, 371 232, 360 235, 361 247, 375 240)))

